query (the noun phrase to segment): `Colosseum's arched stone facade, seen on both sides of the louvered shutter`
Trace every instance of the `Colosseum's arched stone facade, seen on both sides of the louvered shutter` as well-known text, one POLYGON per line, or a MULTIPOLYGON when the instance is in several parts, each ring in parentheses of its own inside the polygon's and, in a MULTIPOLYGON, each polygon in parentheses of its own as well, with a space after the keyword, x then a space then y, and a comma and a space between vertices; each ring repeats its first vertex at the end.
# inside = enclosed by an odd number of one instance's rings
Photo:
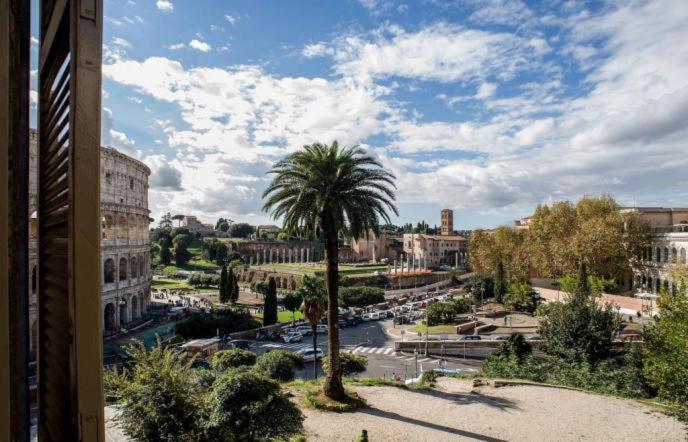
MULTIPOLYGON (((36 297, 36 194, 38 136, 30 144, 31 350, 37 336, 36 297)), ((105 336, 146 320, 150 303, 151 263, 148 239, 148 177, 142 162, 109 147, 100 151, 101 308, 105 336)))

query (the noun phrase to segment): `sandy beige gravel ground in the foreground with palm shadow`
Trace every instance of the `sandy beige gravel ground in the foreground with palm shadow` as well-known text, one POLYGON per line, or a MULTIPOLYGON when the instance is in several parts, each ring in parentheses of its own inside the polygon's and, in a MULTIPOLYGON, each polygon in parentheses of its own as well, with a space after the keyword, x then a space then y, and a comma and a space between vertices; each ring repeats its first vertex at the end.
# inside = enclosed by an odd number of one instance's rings
POLYGON ((359 387, 370 408, 304 410, 309 441, 685 441, 683 424, 633 401, 539 387, 481 387, 440 379, 435 391, 359 387))

